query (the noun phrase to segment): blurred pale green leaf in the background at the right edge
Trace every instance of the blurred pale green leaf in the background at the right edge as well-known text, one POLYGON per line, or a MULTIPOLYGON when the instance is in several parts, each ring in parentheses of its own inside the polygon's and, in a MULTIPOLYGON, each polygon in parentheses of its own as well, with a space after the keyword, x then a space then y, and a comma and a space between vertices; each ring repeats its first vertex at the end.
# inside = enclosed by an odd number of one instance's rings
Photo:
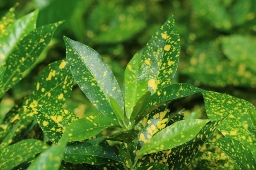
MULTIPOLYGON (((254 73, 256 68, 256 50, 254 39, 247 38, 243 35, 229 35, 221 38, 223 53, 229 60, 235 63, 244 64, 244 67, 250 68, 254 73)), ((245 70, 239 72, 245 76, 245 70), (243 73, 244 72, 244 73, 243 73)))

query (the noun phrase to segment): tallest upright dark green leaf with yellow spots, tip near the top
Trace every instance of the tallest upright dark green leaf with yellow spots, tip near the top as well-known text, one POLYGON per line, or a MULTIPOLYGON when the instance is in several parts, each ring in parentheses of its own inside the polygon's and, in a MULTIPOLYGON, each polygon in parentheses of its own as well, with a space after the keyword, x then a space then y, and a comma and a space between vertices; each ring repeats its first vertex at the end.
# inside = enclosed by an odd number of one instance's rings
POLYGON ((180 36, 171 15, 148 41, 141 56, 148 68, 148 91, 153 94, 171 83, 179 57, 180 36))

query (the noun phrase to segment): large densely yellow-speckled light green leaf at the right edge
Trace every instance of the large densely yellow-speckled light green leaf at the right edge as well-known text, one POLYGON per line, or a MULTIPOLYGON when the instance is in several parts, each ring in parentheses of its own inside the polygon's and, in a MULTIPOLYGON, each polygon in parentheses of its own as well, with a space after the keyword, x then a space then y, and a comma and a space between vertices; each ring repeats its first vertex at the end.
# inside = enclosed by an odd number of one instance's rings
POLYGON ((256 157, 256 128, 252 124, 248 107, 254 106, 243 99, 231 95, 204 91, 203 93, 207 116, 211 120, 227 117, 218 126, 218 130, 231 139, 236 139, 247 146, 256 157))

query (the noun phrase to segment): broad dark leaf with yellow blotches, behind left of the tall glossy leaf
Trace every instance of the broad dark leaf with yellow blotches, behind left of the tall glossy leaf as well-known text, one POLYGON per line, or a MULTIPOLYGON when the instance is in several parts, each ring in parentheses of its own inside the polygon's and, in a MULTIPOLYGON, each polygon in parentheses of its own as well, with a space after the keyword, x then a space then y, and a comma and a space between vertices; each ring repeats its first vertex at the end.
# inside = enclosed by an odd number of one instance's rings
MULTIPOLYGON (((62 107, 73 88, 73 77, 69 64, 60 60, 49 64, 35 79, 32 93, 28 95, 23 105, 43 104, 62 107)), ((19 112, 22 119, 31 119, 33 113, 26 108, 19 112)))

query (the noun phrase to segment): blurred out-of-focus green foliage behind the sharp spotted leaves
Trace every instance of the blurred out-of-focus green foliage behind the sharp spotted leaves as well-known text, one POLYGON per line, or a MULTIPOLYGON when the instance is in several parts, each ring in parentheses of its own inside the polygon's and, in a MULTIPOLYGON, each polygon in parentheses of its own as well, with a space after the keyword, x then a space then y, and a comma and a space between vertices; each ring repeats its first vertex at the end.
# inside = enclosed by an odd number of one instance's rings
MULTIPOLYGON (((228 93, 256 106, 255 0, 0 0, 0 16, 17 2, 17 18, 40 9, 37 26, 65 22, 42 53, 40 64, 4 96, 1 110, 22 103, 36 75, 47 64, 65 58, 63 35, 101 54, 124 89, 126 64, 171 13, 181 39, 175 81, 228 93)), ((79 117, 97 112, 76 85, 64 107, 79 117)), ((204 112, 201 95, 174 101, 170 107, 174 113, 182 108, 186 114, 204 112)))

